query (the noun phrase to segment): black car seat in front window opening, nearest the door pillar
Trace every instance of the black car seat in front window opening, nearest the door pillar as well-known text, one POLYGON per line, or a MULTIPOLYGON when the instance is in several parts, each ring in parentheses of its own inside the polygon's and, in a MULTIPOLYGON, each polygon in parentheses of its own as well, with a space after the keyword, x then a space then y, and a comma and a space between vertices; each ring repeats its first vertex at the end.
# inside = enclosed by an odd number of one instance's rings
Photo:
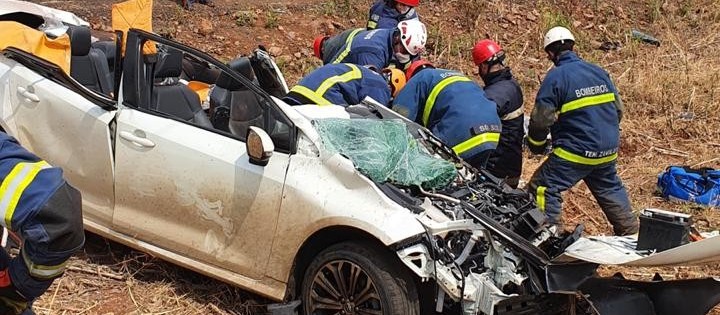
POLYGON ((198 95, 180 83, 182 59, 183 53, 174 48, 167 47, 158 52, 149 109, 212 128, 198 95))

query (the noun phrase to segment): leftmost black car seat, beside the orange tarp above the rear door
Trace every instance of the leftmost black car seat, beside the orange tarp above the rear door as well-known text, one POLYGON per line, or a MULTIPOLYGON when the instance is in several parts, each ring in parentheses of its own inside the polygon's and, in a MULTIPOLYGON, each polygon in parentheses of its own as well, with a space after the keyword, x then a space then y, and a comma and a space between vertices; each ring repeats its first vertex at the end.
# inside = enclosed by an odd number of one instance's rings
POLYGON ((110 95, 113 92, 113 75, 105 53, 91 47, 90 28, 71 25, 67 33, 72 52, 70 76, 88 89, 110 95))

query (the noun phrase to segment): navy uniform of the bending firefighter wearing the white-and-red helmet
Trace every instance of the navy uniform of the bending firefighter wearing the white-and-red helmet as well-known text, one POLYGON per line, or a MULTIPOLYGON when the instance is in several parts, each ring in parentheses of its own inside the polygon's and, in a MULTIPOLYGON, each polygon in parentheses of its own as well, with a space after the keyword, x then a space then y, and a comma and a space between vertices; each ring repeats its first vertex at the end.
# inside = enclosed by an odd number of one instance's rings
POLYGON ((337 39, 329 39, 324 44, 323 63, 344 62, 361 66, 369 65, 378 70, 386 68, 394 60, 392 39, 395 31, 396 28, 345 31, 342 36, 338 36, 345 40, 342 45, 336 43, 337 39))

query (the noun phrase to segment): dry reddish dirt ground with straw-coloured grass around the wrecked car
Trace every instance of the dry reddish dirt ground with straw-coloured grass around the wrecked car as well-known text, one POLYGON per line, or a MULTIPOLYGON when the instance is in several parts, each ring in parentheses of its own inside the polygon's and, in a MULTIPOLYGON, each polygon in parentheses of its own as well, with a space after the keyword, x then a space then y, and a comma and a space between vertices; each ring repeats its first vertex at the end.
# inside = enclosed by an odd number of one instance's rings
MULTIPOLYGON (((72 11, 98 30, 110 31, 110 6, 102 0, 35 0, 72 11)), ((317 34, 363 26, 370 0, 215 0, 215 6, 183 10, 179 1, 156 0, 155 32, 227 61, 264 45, 294 83, 319 65, 311 43, 317 34)), ((419 8, 429 29, 427 58, 475 74, 472 44, 497 40, 532 109, 542 77, 551 67, 541 49, 550 26, 573 29, 580 55, 608 70, 623 97, 618 171, 635 209, 662 208, 693 214, 701 230, 717 230, 718 209, 671 204, 655 197, 657 174, 668 165, 720 168, 720 2, 716 0, 424 0, 419 8), (635 41, 638 29, 661 41, 635 41), (598 47, 613 46, 608 51, 598 47)), ((528 179, 541 159, 527 157, 528 179)), ((565 195, 566 226, 583 223, 589 234, 609 234, 583 184, 565 195)), ((719 265, 674 268, 613 268, 633 279, 657 272, 667 279, 718 277, 719 265)), ((73 258, 66 275, 35 304, 39 314, 261 314, 269 301, 93 237, 73 258)), ((720 314, 717 308, 712 314, 720 314)))

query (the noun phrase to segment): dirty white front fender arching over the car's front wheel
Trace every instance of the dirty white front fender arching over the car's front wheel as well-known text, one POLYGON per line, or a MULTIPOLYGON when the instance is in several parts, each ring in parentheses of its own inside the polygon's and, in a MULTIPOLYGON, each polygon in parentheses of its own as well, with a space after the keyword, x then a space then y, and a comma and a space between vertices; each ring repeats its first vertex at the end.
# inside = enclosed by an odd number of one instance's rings
POLYGON ((342 106, 289 106, 274 100, 302 134, 285 182, 268 268, 270 277, 288 279, 290 269, 286 266, 294 259, 294 254, 289 253, 297 251, 308 236, 325 227, 354 227, 385 245, 425 232, 416 215, 390 200, 350 160, 323 149, 310 119, 348 118, 342 106))

